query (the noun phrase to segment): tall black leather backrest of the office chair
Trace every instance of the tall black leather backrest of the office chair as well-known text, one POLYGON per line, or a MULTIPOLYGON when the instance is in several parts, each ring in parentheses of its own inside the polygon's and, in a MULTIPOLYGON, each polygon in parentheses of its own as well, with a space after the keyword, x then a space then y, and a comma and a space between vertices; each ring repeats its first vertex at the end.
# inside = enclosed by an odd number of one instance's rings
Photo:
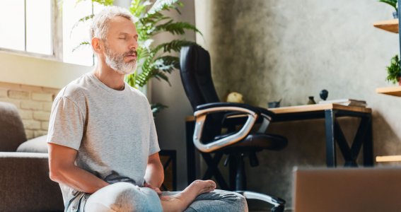
POLYGON ((180 52, 180 74, 192 110, 197 105, 220 102, 211 78, 209 52, 199 45, 182 47, 180 52))

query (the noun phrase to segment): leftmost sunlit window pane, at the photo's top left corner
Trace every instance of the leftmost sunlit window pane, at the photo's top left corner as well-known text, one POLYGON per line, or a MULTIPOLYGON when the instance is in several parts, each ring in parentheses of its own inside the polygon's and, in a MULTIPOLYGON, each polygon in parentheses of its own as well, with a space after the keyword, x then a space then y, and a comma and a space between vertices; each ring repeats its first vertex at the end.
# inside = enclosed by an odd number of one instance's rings
POLYGON ((24 1, 2 2, 0 6, 0 47, 25 50, 24 1))

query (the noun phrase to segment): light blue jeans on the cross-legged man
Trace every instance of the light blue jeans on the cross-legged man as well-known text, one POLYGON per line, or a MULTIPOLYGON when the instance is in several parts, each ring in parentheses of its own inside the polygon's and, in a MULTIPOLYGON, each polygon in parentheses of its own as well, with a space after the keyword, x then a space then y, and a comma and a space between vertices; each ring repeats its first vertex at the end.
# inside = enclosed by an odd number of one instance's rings
MULTIPOLYGON (((163 192, 164 195, 173 195, 178 192, 163 192)), ((130 212, 130 211, 163 211, 159 196, 155 191, 146 187, 138 187, 127 182, 110 184, 94 194, 87 196, 80 208, 85 212, 130 212)), ((68 209, 66 210, 68 211, 68 209)), ((197 196, 186 212, 214 212, 214 211, 248 211, 245 198, 235 192, 216 189, 214 192, 197 196)))

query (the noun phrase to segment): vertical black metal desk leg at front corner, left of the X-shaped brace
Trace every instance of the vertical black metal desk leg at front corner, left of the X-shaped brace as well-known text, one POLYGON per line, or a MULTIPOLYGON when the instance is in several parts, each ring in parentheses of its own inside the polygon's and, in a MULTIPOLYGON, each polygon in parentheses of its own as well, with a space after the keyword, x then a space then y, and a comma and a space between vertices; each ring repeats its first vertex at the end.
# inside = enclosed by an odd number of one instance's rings
POLYGON ((335 154, 335 112, 325 110, 325 126, 326 126, 326 164, 327 167, 336 167, 335 154))

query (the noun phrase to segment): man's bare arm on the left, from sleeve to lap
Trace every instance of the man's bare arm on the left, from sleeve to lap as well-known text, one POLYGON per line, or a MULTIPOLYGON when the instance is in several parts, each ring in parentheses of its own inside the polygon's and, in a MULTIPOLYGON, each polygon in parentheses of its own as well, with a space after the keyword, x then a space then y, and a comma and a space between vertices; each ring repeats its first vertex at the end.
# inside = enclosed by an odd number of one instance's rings
POLYGON ((77 167, 78 151, 66 146, 48 143, 50 179, 80 192, 92 194, 108 185, 107 182, 77 167))

